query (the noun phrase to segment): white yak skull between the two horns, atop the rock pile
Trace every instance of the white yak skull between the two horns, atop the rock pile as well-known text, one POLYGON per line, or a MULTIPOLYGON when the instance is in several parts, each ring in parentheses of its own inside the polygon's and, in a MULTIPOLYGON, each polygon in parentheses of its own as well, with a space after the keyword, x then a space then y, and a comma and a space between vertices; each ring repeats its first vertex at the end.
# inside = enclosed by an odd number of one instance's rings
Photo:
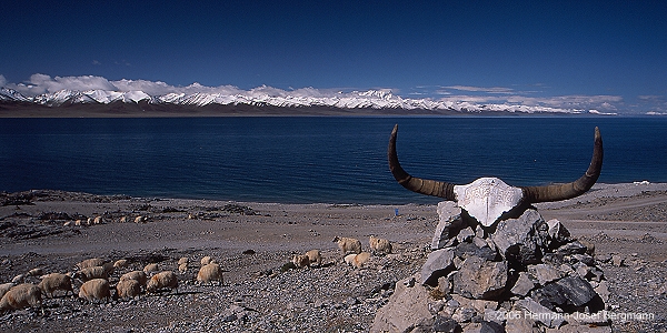
POLYGON ((497 178, 480 178, 467 185, 455 185, 458 205, 484 226, 490 226, 521 202, 521 189, 506 184, 497 178))

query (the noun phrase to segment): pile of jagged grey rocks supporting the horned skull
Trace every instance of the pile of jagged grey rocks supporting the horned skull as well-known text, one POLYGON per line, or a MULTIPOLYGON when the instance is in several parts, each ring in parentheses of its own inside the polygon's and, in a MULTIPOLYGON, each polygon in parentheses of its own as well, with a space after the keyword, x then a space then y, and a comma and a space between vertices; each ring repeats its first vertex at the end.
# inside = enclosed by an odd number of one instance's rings
POLYGON ((594 246, 519 206, 484 226, 452 202, 421 272, 397 283, 374 332, 610 332, 594 246))

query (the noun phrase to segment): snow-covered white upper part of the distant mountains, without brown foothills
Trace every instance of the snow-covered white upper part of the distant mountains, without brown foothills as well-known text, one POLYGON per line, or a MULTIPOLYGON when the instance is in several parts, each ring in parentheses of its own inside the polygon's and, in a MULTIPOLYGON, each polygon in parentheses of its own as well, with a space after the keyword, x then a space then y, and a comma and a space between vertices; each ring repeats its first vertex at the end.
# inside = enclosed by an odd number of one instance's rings
POLYGON ((21 93, 0 88, 0 101, 30 102, 47 107, 61 107, 71 104, 109 104, 115 102, 149 104, 175 104, 189 107, 220 105, 270 105, 279 108, 308 108, 326 107, 338 109, 392 109, 392 110, 427 110, 427 111, 456 111, 456 112, 516 112, 516 113, 583 113, 577 109, 559 109, 550 107, 527 107, 516 104, 476 104, 471 102, 454 102, 447 100, 408 99, 395 95, 388 90, 368 90, 338 92, 329 95, 290 95, 286 93, 271 93, 270 89, 241 91, 236 93, 166 93, 150 95, 140 90, 108 91, 108 90, 60 90, 36 97, 24 97, 21 93))

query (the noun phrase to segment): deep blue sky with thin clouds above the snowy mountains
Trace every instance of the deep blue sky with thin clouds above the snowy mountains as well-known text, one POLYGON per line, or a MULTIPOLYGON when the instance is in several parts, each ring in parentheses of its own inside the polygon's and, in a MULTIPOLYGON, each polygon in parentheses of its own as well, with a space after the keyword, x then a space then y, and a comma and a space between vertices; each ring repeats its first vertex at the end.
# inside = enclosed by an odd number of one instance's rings
POLYGON ((8 87, 39 73, 667 113, 666 1, 0 4, 8 87))

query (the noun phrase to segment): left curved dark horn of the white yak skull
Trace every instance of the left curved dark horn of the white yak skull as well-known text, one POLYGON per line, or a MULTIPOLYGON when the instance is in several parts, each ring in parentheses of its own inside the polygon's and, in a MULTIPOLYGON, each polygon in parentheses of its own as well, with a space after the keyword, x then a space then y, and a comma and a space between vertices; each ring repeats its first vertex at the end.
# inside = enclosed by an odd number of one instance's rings
POLYGON ((400 167, 400 163, 398 162, 398 155, 396 154, 397 132, 398 124, 396 124, 391 131, 389 147, 387 149, 387 158, 389 159, 389 170, 391 170, 391 174, 394 174, 394 178, 398 181, 398 183, 412 192, 439 196, 449 201, 456 201, 456 195, 454 194, 454 184, 411 176, 400 167))

